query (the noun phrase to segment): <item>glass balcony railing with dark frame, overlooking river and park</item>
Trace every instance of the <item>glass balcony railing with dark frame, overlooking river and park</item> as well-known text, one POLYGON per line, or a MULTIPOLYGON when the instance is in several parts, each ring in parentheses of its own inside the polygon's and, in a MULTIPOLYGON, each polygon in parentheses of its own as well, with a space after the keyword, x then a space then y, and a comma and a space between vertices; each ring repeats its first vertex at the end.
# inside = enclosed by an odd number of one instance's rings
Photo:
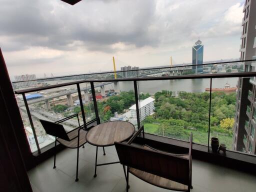
MULTIPOLYGON (((132 78, 124 78, 120 71, 116 72, 116 79, 113 72, 94 74, 94 79, 92 74, 77 75, 75 79, 67 76, 44 79, 47 85, 15 89, 31 151, 40 150, 53 141, 38 119, 56 121, 71 114, 78 115, 79 123, 95 117, 99 117, 100 122, 125 120, 135 127, 144 125, 148 134, 187 141, 193 132, 193 141, 197 144, 209 146, 210 137, 217 136, 228 150, 232 150, 233 145, 242 148, 243 140, 233 143, 232 139, 234 124, 239 129, 235 123, 239 97, 236 84, 239 77, 243 77, 240 91, 248 92, 246 83, 256 72, 239 73, 236 68, 236 72, 221 73, 219 63, 212 64, 211 69, 213 67, 219 70, 210 74, 184 74, 185 70, 179 74, 179 68, 172 70, 173 75, 165 75, 166 68, 154 68, 151 72, 139 70, 132 78)), ((232 66, 221 69, 228 68, 233 69, 232 66)), ((167 68, 170 69, 173 67, 167 68)), ((64 126, 68 130, 76 123, 77 119, 73 118, 64 126)), ((239 132, 242 131, 237 130, 237 134, 239 132)), ((237 136, 240 137, 243 136, 237 136)))

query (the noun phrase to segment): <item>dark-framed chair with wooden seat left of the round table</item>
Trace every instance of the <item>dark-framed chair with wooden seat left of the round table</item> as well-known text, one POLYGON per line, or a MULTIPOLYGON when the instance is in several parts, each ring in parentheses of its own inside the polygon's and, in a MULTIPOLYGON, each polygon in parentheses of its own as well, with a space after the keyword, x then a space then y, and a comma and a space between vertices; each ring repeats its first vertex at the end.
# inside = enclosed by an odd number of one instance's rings
MULTIPOLYGON (((79 125, 78 127, 74 128, 73 130, 66 132, 63 125, 59 124, 59 123, 65 121, 67 119, 69 119, 69 118, 67 117, 67 118, 58 120, 56 122, 50 122, 47 120, 40 119, 40 122, 47 134, 55 136, 55 146, 54 147, 56 147, 56 144, 58 141, 60 144, 64 145, 65 147, 77 148, 75 181, 78 181, 79 148, 80 148, 80 146, 84 147, 84 144, 87 142, 86 138, 85 138, 85 134, 87 132, 88 124, 92 123, 93 121, 96 121, 96 119, 93 119, 86 124, 79 125)), ((92 127, 92 126, 90 126, 90 127, 92 127)), ((56 150, 54 152, 53 168, 56 167, 55 162, 56 162, 56 150)))

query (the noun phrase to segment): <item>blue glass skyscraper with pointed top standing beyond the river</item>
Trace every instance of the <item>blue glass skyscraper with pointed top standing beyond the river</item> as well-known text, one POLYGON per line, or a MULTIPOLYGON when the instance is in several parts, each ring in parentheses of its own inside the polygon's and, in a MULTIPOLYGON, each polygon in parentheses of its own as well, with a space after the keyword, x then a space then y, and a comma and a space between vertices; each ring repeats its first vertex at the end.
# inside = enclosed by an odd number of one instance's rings
MULTIPOLYGON (((203 62, 203 45, 202 41, 198 39, 192 47, 192 64, 202 64, 203 62)), ((202 73, 202 65, 192 66, 195 73, 202 73)))

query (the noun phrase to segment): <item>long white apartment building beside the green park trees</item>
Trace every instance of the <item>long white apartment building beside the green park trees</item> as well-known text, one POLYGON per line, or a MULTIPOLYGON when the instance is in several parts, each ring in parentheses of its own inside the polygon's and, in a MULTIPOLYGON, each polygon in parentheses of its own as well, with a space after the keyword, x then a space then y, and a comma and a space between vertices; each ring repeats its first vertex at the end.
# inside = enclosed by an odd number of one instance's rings
MULTIPOLYGON (((152 97, 147 97, 144 100, 139 101, 139 119, 144 120, 148 115, 153 114, 154 111, 154 99, 152 97)), ((132 118, 137 118, 136 114, 136 104, 133 104, 130 109, 130 116, 132 118)))

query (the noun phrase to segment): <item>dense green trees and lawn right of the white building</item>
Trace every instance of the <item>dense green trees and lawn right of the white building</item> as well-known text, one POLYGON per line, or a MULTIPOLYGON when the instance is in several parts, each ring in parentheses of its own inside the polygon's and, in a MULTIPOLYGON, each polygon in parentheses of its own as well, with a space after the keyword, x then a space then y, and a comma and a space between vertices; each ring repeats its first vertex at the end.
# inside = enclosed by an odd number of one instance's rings
MULTIPOLYGON (((193 132, 194 141, 207 144, 209 93, 180 91, 173 97, 171 91, 154 94, 155 113, 143 121, 145 130, 168 137, 187 140, 193 132)), ((235 93, 213 92, 211 95, 210 134, 218 136, 228 148, 232 144, 235 112, 235 93)))

